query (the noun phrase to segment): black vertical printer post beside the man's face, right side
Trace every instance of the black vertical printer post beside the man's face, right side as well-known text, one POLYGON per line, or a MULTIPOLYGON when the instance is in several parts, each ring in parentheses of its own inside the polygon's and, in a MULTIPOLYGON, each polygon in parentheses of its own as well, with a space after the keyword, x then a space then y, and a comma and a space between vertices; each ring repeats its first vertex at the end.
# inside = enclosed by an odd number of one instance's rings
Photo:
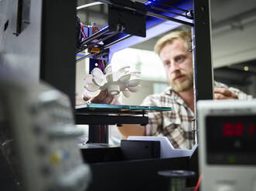
MULTIPOLYGON (((203 99, 213 99, 213 66, 211 59, 210 2, 194 0, 193 69, 194 105, 203 99)), ((195 119, 197 113, 195 109, 195 119)), ((194 132, 197 142, 197 120, 194 132)))

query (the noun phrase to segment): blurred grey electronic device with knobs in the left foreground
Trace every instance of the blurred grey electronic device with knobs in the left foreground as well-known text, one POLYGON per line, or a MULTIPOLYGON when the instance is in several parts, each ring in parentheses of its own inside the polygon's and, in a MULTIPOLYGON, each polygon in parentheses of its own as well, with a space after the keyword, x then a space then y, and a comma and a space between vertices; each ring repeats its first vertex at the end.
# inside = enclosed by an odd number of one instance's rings
MULTIPOLYGON (((1 189, 13 182, 21 190, 85 190, 90 169, 83 162, 67 95, 20 77, 0 67, 0 181, 1 189), (8 170, 9 169, 9 170, 8 170)), ((19 190, 20 190, 19 189, 19 190)), ((18 190, 18 189, 17 189, 18 190)))

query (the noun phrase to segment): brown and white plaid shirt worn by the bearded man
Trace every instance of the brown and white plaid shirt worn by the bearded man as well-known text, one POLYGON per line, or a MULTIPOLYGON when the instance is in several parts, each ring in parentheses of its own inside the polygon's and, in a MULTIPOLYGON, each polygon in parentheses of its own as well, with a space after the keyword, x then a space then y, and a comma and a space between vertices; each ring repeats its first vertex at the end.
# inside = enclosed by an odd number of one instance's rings
MULTIPOLYGON (((252 99, 239 89, 229 88, 220 82, 214 87, 226 88, 237 94, 238 99, 252 99)), ((146 136, 166 136, 176 149, 192 149, 195 145, 194 113, 179 95, 168 87, 160 94, 148 95, 142 106, 171 107, 168 112, 148 112, 146 136)))

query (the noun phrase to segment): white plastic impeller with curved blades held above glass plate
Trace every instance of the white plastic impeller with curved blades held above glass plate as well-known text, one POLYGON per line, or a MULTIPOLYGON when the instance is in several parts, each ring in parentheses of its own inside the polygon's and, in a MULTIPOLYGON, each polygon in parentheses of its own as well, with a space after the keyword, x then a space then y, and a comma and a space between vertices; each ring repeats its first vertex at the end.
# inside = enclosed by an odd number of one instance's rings
POLYGON ((122 92, 128 98, 131 92, 138 92, 141 87, 142 79, 139 77, 141 72, 131 70, 130 66, 124 66, 117 72, 113 72, 111 65, 108 65, 105 71, 104 75, 101 69, 94 68, 91 74, 87 75, 84 86, 87 95, 95 97, 101 91, 108 89, 108 93, 111 95, 118 95, 122 92))

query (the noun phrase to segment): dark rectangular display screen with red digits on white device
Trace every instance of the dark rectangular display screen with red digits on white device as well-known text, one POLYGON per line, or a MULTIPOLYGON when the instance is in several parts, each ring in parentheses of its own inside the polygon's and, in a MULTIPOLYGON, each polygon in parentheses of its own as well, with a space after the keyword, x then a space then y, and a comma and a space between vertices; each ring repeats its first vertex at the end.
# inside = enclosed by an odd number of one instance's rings
POLYGON ((207 116, 206 138, 208 162, 256 163, 256 116, 207 116))

